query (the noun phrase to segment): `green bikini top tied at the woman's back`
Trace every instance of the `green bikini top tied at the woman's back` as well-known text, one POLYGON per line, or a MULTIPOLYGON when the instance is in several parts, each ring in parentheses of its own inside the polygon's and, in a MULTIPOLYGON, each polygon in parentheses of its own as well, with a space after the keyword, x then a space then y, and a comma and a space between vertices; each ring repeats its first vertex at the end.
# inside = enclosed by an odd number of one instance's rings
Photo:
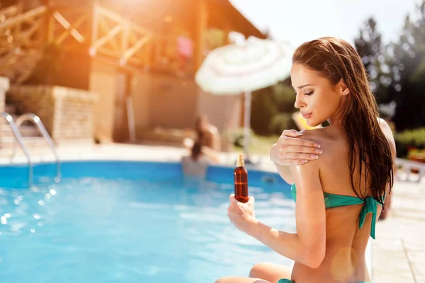
MULTIPOLYGON (((295 184, 290 187, 290 192, 293 197, 294 202, 297 202, 297 187, 295 184)), ((370 236, 375 239, 375 224, 376 224, 376 205, 381 205, 378 201, 376 201, 373 197, 366 197, 365 200, 362 200, 359 197, 351 197, 349 195, 334 195, 329 194, 328 192, 323 192, 324 195, 324 205, 326 208, 332 207, 344 207, 346 205, 354 205, 354 204, 363 204, 363 208, 361 209, 358 228, 361 229, 363 224, 365 224, 366 214, 372 214, 372 223, 370 224, 370 236)), ((385 200, 385 196, 382 197, 382 201, 385 200)))

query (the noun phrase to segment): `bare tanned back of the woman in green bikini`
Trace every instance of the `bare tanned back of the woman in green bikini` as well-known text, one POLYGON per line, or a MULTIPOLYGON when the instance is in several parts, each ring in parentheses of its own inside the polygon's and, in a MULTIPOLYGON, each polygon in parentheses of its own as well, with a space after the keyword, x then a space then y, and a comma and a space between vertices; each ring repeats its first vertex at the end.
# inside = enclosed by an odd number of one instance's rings
MULTIPOLYGON (((348 143, 339 127, 325 127, 303 133, 305 139, 316 141, 323 153, 320 158, 310 162, 319 163, 319 178, 324 193, 351 197, 370 196, 365 190, 363 179, 358 182, 358 168, 354 172, 354 187, 351 186, 351 172, 348 166, 348 143)), ((359 229, 359 216, 363 204, 343 205, 327 208, 326 211, 326 254, 322 264, 312 269, 295 263, 293 280, 295 282, 358 282, 368 281, 365 265, 365 249, 370 237, 372 214, 366 214, 365 222, 359 229)), ((378 219, 382 207, 377 205, 375 215, 378 219)))

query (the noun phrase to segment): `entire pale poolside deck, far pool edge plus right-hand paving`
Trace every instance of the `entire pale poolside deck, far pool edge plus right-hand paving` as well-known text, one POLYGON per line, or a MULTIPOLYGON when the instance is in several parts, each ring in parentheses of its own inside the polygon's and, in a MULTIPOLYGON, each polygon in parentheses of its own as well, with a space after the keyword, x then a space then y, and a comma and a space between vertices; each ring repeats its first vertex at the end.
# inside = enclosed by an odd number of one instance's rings
MULTIPOLYGON (((69 145, 57 149, 62 160, 122 159, 140 161, 179 161, 186 149, 170 146, 129 144, 69 145)), ((31 149, 33 161, 52 161, 48 149, 31 149)), ((10 163, 9 154, 0 152, 0 163, 10 163)), ((222 162, 234 166, 236 154, 222 154, 222 162)), ((275 171, 268 156, 253 156, 261 169, 275 171)), ((19 152, 13 162, 26 162, 19 152)), ((425 180, 421 183, 396 181, 390 217, 378 221, 372 241, 374 283, 425 283, 425 180)))

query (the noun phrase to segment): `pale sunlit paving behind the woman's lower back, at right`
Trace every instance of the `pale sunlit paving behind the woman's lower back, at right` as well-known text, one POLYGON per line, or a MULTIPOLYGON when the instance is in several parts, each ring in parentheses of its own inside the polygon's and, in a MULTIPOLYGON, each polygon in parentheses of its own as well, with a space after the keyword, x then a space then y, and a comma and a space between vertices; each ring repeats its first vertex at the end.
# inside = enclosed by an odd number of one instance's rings
POLYGON ((396 182, 390 217, 373 241, 375 283, 425 283, 425 180, 396 182))

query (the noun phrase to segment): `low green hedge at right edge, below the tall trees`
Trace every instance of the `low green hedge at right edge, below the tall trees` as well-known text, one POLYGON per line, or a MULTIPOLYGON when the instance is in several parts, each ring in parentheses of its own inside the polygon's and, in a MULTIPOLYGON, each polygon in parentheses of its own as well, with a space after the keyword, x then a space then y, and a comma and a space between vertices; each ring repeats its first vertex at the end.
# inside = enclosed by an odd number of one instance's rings
POLYGON ((425 149, 425 128, 407 129, 396 133, 394 138, 399 157, 406 157, 409 149, 425 149))

